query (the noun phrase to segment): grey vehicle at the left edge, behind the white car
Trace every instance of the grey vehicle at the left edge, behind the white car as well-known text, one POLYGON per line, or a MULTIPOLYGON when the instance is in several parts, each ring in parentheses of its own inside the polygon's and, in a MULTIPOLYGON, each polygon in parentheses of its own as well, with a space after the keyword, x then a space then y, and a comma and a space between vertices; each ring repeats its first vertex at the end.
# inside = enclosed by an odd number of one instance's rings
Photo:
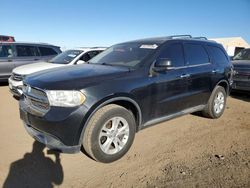
POLYGON ((48 61, 61 53, 60 47, 43 43, 0 43, 0 81, 7 81, 15 67, 48 61))

